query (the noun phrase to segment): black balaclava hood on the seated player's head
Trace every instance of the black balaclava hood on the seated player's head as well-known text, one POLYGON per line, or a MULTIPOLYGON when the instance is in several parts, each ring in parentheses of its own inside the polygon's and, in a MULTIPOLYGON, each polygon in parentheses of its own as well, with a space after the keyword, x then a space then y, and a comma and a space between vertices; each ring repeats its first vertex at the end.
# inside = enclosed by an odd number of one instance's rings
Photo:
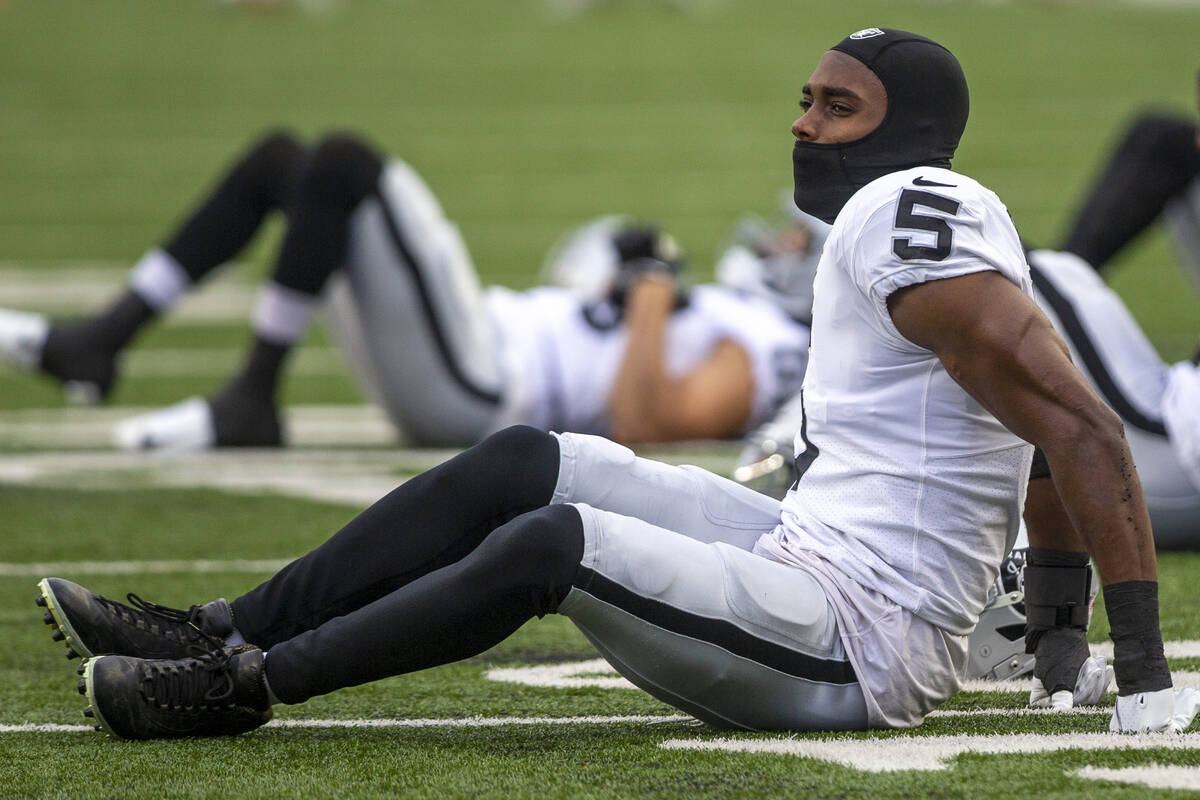
POLYGON ((876 178, 911 167, 949 167, 970 107, 962 67, 917 34, 868 28, 833 46, 865 64, 888 94, 880 126, 853 142, 792 149, 796 205, 833 222, 850 197, 876 178))

